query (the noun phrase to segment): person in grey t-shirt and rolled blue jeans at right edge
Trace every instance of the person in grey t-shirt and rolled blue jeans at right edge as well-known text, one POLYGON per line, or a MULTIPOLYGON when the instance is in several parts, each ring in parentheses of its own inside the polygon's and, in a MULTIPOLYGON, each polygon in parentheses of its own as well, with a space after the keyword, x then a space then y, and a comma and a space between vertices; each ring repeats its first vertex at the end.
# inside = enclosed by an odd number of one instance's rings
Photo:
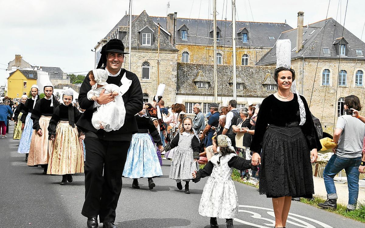
POLYGON ((350 95, 345 97, 344 109, 347 115, 338 117, 333 136, 333 141, 338 143, 338 146, 333 148, 334 154, 323 171, 327 200, 324 203, 318 204, 321 208, 337 208, 337 193, 333 178, 342 169, 345 169, 347 186, 349 188, 347 210, 356 209, 360 169, 362 168, 361 171, 363 171, 364 162, 362 161, 365 161, 365 154, 361 155, 365 124, 358 117, 355 117, 351 110, 361 110, 360 100, 357 96, 350 95))

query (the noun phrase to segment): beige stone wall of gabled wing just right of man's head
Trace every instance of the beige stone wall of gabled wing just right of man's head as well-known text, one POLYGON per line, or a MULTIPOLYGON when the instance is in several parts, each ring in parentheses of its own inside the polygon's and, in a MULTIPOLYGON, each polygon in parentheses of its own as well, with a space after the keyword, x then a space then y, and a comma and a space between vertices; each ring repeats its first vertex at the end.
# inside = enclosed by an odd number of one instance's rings
MULTIPOLYGON (((132 49, 131 72, 135 73, 141 82, 143 93, 149 94, 149 101, 157 91, 157 50, 144 51, 132 49), (150 63, 150 79, 142 80, 142 63, 150 63)), ((123 68, 128 69, 129 55, 124 59, 123 68)), ((176 72, 177 72, 177 52, 160 51, 160 84, 166 84, 164 96, 165 106, 171 106, 176 100, 176 72)))

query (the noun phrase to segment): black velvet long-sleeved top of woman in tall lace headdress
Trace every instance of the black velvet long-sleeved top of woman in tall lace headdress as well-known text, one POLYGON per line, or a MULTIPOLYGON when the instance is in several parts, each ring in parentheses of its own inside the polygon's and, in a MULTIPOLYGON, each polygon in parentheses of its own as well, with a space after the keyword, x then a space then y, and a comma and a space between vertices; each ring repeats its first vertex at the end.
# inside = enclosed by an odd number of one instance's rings
MULTIPOLYGON (((310 150, 322 148, 307 101, 303 96, 300 96, 300 98, 303 101, 306 110, 306 122, 300 127, 306 137, 308 148, 310 150)), ((299 123, 300 112, 296 93, 294 93, 294 98, 291 101, 280 101, 271 94, 262 101, 260 106, 250 150, 258 153, 261 152, 262 140, 264 139, 268 124, 290 128, 299 126, 299 123)))

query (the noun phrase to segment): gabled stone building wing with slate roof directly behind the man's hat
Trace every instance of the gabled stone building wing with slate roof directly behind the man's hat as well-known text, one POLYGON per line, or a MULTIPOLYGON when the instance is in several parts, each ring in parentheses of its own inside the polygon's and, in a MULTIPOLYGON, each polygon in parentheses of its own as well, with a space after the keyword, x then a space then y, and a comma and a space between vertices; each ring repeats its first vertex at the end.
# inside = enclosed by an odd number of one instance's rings
MULTIPOLYGON (((150 102, 157 92, 157 55, 158 55, 158 23, 146 11, 132 17, 131 52, 125 55, 123 68, 128 69, 131 58, 131 72, 141 82, 143 100, 150 102)), ((110 39, 123 41, 125 51, 129 49, 128 16, 124 16, 118 24, 95 46, 96 64, 100 59, 101 47, 110 39)), ((176 100, 176 67, 178 50, 169 42, 170 33, 160 27, 160 84, 166 84, 164 101, 166 105, 176 100)))

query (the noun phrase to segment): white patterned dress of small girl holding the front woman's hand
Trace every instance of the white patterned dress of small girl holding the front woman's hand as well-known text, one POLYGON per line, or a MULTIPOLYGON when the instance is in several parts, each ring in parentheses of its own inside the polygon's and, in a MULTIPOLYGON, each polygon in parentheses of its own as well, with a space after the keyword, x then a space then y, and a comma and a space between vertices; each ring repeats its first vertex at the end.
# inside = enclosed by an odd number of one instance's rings
POLYGON ((233 219, 238 213, 238 196, 231 174, 233 168, 228 161, 237 154, 228 154, 220 158, 219 154, 212 156, 213 171, 205 183, 199 204, 199 214, 219 219, 233 219))

